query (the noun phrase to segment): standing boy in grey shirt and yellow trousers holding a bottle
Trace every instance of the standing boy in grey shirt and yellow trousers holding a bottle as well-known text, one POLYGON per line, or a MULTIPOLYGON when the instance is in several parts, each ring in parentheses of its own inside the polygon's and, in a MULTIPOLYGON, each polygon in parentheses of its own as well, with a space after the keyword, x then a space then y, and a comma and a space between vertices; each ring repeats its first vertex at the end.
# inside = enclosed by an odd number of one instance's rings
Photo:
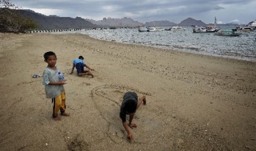
POLYGON ((64 90, 64 84, 66 80, 63 74, 56 66, 57 57, 52 51, 48 51, 43 55, 45 62, 48 64, 43 71, 43 85, 45 85, 46 98, 52 98, 53 114, 52 117, 55 120, 61 120, 58 116, 58 111, 61 111, 61 115, 69 116, 70 114, 65 112, 66 109, 66 93, 64 90))

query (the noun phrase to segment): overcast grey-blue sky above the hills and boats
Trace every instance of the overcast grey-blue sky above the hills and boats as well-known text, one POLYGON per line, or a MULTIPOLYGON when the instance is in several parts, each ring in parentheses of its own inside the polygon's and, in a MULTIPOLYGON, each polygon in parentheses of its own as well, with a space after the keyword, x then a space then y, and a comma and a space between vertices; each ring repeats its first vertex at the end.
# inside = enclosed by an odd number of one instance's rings
POLYGON ((256 20, 255 0, 9 0, 44 15, 84 19, 132 18, 142 23, 193 18, 206 24, 248 24, 256 20))

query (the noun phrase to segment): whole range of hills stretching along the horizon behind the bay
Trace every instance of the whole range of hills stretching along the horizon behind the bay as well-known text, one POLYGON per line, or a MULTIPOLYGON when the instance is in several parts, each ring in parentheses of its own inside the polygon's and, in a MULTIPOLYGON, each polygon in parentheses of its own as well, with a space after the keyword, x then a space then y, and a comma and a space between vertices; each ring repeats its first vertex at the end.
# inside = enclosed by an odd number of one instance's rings
MULTIPOLYGON (((134 21, 131 18, 113 19, 103 18, 102 20, 95 21, 92 19, 83 19, 80 17, 59 17, 56 15, 46 16, 40 13, 36 13, 32 10, 20 9, 21 15, 34 20, 38 25, 39 29, 52 29, 52 28, 101 28, 101 27, 139 27, 139 26, 205 26, 201 20, 195 20, 188 18, 181 21, 179 24, 171 21, 150 21, 145 24, 134 21)), ((236 25, 235 25, 236 26, 236 25)))

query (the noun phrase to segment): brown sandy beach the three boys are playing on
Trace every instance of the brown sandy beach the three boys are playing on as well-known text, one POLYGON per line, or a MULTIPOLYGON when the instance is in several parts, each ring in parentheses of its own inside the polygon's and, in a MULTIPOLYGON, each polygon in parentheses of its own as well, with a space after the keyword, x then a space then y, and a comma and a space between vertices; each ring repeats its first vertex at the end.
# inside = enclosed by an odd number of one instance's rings
POLYGON ((256 150, 256 62, 46 33, 0 33, 0 61, 0 150, 256 150), (32 78, 50 50, 67 79, 61 121, 32 78), (79 55, 94 78, 69 74, 79 55), (147 100, 132 142, 126 91, 147 100))

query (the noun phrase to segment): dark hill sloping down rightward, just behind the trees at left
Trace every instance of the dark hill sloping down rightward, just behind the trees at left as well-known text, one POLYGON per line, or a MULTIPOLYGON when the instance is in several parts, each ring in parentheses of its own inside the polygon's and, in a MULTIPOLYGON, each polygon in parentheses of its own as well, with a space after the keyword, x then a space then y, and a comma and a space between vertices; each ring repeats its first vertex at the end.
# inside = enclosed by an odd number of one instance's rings
POLYGON ((69 18, 69 17, 58 17, 55 15, 46 16, 40 13, 35 13, 32 10, 20 9, 18 10, 21 15, 34 20, 40 29, 51 29, 51 28, 94 28, 97 25, 92 24, 82 18, 69 18))

